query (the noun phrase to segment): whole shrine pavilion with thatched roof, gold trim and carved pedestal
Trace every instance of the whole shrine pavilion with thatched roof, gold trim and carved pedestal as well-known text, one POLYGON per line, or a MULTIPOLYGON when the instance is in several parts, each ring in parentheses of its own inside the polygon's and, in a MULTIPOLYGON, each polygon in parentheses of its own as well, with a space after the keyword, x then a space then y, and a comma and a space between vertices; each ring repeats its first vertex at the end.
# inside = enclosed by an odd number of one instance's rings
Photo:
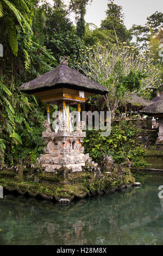
POLYGON ((66 167, 72 169, 73 172, 78 172, 90 159, 89 154, 83 154, 82 142, 86 134, 82 131, 84 122, 80 120, 80 104, 86 102, 91 95, 105 95, 108 89, 70 68, 67 57, 61 57, 60 60, 57 68, 24 83, 20 91, 35 95, 46 103, 47 121, 43 123, 46 130, 42 132, 42 137, 45 138, 47 147, 45 155, 40 156, 46 171, 53 172, 66 167), (59 122, 53 131, 51 130, 49 104, 57 105, 59 111, 59 122), (76 130, 73 130, 71 124, 70 107, 72 105, 77 106, 76 130))

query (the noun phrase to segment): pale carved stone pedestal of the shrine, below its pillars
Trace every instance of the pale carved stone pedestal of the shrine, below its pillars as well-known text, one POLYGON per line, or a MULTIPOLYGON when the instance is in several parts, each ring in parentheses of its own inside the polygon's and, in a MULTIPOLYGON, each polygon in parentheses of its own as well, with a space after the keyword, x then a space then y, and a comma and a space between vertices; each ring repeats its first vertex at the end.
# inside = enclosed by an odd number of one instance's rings
POLYGON ((64 120, 57 133, 52 132, 47 121, 43 125, 46 131, 42 132, 42 137, 45 138, 47 147, 45 155, 40 155, 40 161, 46 167, 46 172, 57 172, 61 167, 72 169, 72 172, 82 171, 85 162, 91 160, 89 154, 83 154, 82 142, 86 134, 82 132, 82 122, 75 132, 65 130, 64 120))

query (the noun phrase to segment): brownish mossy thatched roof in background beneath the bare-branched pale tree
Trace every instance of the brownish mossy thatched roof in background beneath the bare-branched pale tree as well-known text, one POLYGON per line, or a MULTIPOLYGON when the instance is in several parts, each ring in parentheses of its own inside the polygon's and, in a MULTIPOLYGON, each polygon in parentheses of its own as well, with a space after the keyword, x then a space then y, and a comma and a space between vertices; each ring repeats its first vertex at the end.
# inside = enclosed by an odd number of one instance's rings
POLYGON ((151 104, 149 100, 144 100, 142 97, 138 96, 135 93, 126 93, 124 97, 125 103, 130 103, 133 106, 145 107, 151 104))

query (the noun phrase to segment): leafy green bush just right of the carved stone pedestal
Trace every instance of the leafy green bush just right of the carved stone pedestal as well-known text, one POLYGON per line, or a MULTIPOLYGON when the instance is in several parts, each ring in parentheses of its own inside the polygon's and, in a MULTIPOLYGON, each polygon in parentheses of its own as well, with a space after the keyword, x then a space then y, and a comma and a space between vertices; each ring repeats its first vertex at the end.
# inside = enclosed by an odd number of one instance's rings
POLYGON ((140 159, 145 150, 135 141, 137 133, 139 129, 126 121, 113 125, 109 137, 101 136, 101 131, 87 131, 84 139, 85 153, 89 153, 98 163, 101 163, 104 155, 109 155, 118 164, 128 158, 135 167, 145 166, 145 161, 140 159))

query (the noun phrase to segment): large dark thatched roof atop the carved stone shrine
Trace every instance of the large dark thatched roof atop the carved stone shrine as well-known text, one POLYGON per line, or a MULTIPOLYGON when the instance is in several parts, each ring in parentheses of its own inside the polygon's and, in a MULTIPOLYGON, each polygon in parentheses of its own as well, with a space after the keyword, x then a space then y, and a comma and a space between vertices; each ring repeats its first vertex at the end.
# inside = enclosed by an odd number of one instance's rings
POLYGON ((24 83, 20 87, 20 91, 33 94, 63 87, 101 95, 108 93, 108 89, 82 75, 77 70, 71 69, 66 64, 60 64, 57 68, 24 83))

